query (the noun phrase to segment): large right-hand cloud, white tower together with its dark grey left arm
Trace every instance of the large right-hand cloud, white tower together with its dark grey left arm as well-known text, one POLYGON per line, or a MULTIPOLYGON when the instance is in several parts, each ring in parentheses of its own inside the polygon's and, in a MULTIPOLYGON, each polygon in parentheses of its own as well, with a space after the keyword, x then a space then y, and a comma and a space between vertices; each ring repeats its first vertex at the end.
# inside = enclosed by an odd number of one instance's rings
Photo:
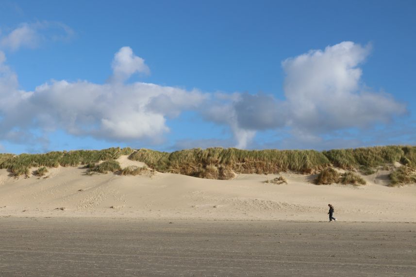
POLYGON ((406 113, 406 107, 362 84, 359 65, 370 49, 347 41, 286 59, 282 63, 285 99, 238 94, 212 104, 204 116, 228 124, 240 147, 247 147, 259 130, 289 127, 293 137, 318 143, 320 135, 332 131, 387 123, 406 113))

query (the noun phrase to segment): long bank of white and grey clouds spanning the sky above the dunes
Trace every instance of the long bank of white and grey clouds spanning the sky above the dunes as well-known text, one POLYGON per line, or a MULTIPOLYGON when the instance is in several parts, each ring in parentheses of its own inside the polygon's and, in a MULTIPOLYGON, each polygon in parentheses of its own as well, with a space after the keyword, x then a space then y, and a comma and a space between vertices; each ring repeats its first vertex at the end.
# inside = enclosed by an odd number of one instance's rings
POLYGON ((283 129, 292 137, 286 136, 282 145, 330 145, 334 142, 325 135, 386 123, 406 112, 390 95, 368 91, 362 83, 359 65, 369 51, 369 47, 342 42, 283 61, 282 100, 262 93, 206 94, 152 83, 125 83, 132 74, 150 73, 129 47, 115 54, 108 83, 50 81, 34 91, 22 91, 0 51, 0 139, 17 142, 17 138, 27 138, 23 141, 45 144, 45 133, 60 129, 111 141, 161 142, 169 132, 167 118, 195 110, 206 120, 227 126, 239 148, 249 147, 257 131, 283 129))

